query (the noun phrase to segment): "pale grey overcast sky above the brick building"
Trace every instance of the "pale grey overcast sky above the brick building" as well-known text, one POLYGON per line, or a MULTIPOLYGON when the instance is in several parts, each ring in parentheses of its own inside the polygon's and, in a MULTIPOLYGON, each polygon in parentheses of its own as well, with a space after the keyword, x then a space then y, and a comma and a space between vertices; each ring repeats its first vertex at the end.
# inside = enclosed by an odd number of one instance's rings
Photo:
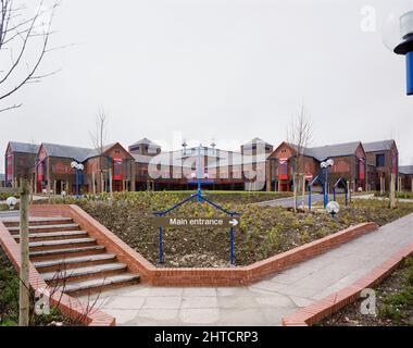
POLYGON ((277 145, 303 101, 312 145, 395 138, 401 164, 413 164, 404 59, 381 40, 390 3, 65 0, 52 45, 77 45, 45 60, 43 72, 61 72, 8 100, 24 105, 0 113, 0 151, 9 140, 91 147, 99 108, 108 142, 125 147, 142 137, 171 147, 174 132, 224 148, 277 145), (366 5, 374 32, 362 30, 366 5))

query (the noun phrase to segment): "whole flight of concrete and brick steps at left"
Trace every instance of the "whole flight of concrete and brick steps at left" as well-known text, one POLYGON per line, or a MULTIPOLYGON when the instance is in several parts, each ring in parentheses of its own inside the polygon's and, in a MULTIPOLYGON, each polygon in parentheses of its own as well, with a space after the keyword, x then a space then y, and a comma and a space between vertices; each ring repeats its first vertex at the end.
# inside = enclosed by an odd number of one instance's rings
MULTIPOLYGON (((18 243, 17 220, 3 221, 18 243)), ((139 276, 68 217, 30 217, 29 259, 45 282, 70 295, 136 284, 139 276)))

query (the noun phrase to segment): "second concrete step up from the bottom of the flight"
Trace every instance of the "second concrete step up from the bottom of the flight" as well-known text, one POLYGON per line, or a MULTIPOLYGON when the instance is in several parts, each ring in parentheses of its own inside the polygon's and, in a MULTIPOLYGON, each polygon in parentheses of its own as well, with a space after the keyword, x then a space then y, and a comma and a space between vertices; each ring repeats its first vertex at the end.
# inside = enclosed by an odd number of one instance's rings
POLYGON ((124 273, 126 270, 126 264, 114 262, 97 264, 87 268, 64 270, 62 272, 40 273, 40 275, 49 285, 57 285, 68 282, 76 282, 85 278, 107 277, 110 275, 124 273))

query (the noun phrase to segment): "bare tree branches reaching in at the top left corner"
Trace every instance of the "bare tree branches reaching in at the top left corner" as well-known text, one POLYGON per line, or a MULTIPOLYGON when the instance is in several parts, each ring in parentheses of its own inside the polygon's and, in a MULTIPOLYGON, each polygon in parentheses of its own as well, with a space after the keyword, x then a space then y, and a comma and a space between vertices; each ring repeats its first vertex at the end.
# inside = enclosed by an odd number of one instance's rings
MULTIPOLYGON (((26 7, 24 0, 0 0, 0 102, 23 86, 55 73, 38 74, 38 70, 52 50, 49 39, 57 7, 57 1, 46 5, 45 0, 35 4, 30 0, 26 7)), ((0 107, 0 112, 21 105, 0 107)))

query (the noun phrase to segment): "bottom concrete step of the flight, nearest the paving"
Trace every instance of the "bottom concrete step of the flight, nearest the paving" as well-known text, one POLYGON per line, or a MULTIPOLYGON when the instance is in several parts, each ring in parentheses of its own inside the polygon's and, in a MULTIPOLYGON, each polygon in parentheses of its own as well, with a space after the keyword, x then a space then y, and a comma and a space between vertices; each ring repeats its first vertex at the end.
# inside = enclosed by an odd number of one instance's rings
POLYGON ((93 278, 83 282, 74 282, 66 284, 65 293, 72 296, 88 295, 93 293, 101 293, 103 290, 133 285, 139 282, 139 275, 132 273, 124 273, 120 275, 112 275, 105 278, 93 278))

